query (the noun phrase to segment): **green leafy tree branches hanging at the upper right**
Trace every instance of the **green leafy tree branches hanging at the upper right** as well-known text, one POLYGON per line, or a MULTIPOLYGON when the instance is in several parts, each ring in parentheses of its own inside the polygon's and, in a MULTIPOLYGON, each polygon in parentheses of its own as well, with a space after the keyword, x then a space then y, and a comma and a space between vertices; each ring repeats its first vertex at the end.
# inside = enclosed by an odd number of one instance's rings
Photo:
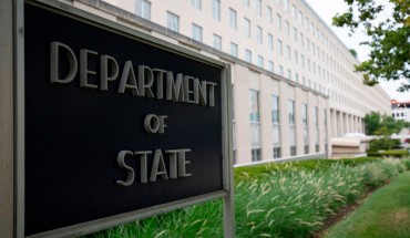
MULTIPOLYGON (((357 72, 363 72, 363 83, 375 85, 381 80, 410 79, 410 1, 389 0, 392 6, 391 18, 378 19, 388 11, 386 4, 377 0, 344 0, 349 9, 336 14, 336 27, 348 27, 350 34, 361 25, 371 41, 361 42, 370 46, 369 60, 355 65, 357 72)), ((398 91, 410 90, 410 81, 398 91)))

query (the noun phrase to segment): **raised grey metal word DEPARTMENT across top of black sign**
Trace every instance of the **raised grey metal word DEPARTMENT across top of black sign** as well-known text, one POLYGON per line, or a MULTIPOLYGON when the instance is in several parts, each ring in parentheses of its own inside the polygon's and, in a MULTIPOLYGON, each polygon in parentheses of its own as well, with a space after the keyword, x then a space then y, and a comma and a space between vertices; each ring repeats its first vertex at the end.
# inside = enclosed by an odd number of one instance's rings
POLYGON ((116 93, 131 93, 134 96, 166 100, 196 104, 202 106, 215 106, 216 83, 199 81, 195 76, 184 75, 162 69, 151 69, 146 65, 133 65, 132 61, 123 62, 120 69, 119 62, 110 55, 88 49, 80 50, 80 64, 73 50, 63 43, 50 43, 50 82, 66 84, 71 83, 80 69, 80 87, 90 90, 107 91, 112 82, 120 80, 116 93), (69 71, 64 77, 60 77, 60 58, 66 58, 69 71), (89 68, 89 59, 100 61, 100 72, 89 68), (111 72, 111 73, 110 73, 111 72), (100 82, 92 84, 89 76, 94 75, 100 82), (156 89, 154 89, 154 83, 156 89), (165 95, 164 95, 165 94, 165 95))

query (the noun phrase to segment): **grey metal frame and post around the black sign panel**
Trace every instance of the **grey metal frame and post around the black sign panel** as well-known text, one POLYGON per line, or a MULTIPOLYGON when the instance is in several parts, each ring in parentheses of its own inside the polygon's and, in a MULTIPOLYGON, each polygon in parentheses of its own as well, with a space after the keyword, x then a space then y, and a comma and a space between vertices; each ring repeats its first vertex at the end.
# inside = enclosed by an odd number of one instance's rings
POLYGON ((81 236, 113 226, 131 223, 155 216, 158 214, 167 213, 171 210, 187 207, 194 204, 204 203, 212 199, 224 199, 224 236, 234 237, 234 192, 233 192, 233 138, 232 138, 232 84, 230 84, 230 66, 227 63, 217 61, 215 59, 205 56, 197 52, 187 50, 180 45, 154 38, 153 35, 140 32, 123 24, 110 21, 107 19, 85 12, 81 9, 74 8, 70 4, 53 1, 53 0, 17 0, 14 3, 14 70, 16 70, 16 84, 14 84, 14 123, 16 123, 16 187, 14 187, 14 201, 16 201, 16 221, 14 221, 14 237, 25 237, 24 234, 24 179, 25 179, 25 122, 24 122, 24 3, 34 4, 37 7, 47 9, 54 13, 59 13, 93 27, 121 34, 122 37, 131 38, 155 48, 160 48, 172 53, 180 54, 185 58, 198 61, 201 63, 211 64, 221 69, 221 97, 222 97, 222 166, 223 166, 223 189, 189 197, 181 200, 161 204, 153 207, 147 207, 139 210, 133 210, 124 214, 119 214, 110 217, 104 217, 96 220, 90 220, 82 224, 66 226, 54 230, 49 230, 40 234, 34 234, 29 237, 72 237, 81 236))

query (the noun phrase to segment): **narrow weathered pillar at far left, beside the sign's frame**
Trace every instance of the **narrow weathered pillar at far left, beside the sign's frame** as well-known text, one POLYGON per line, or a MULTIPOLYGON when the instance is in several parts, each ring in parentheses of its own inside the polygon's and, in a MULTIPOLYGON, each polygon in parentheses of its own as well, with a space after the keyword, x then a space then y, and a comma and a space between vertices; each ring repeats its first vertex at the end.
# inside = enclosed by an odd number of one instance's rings
POLYGON ((13 237, 13 2, 0 4, 0 235, 13 237))

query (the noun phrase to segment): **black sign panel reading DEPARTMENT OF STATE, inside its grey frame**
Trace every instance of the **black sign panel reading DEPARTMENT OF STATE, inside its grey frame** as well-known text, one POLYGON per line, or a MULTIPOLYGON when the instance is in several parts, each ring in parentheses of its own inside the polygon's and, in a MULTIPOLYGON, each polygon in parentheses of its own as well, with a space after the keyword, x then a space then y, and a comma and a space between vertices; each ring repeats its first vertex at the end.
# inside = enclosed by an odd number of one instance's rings
POLYGON ((24 8, 25 236, 223 190, 222 66, 24 8))

